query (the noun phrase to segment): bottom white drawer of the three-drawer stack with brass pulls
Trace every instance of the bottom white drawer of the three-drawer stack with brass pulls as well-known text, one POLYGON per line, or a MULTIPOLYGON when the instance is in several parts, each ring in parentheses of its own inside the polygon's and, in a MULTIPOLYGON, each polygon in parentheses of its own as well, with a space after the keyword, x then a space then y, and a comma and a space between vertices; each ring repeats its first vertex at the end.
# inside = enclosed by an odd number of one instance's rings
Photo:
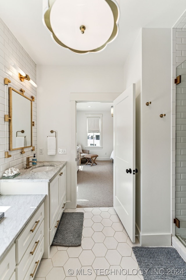
POLYGON ((28 268, 28 272, 27 272, 24 280, 31 280, 31 279, 33 280, 34 279, 35 273, 38 269, 38 266, 40 264, 43 253, 44 253, 44 237, 41 240, 40 246, 35 254, 35 257, 31 263, 30 267, 28 268))

